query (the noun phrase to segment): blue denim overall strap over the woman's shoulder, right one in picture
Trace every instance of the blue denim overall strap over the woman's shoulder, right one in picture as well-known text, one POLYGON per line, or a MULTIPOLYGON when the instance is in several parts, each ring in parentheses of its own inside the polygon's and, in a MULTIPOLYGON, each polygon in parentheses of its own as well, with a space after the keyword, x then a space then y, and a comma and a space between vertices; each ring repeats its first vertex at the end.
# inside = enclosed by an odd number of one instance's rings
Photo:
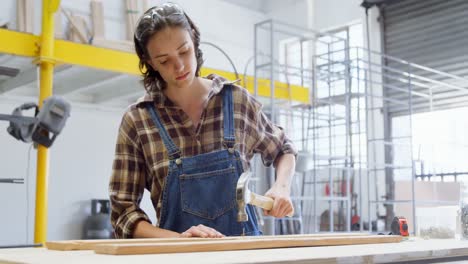
POLYGON ((226 84, 223 88, 223 122, 224 122, 224 144, 233 148, 236 143, 234 134, 234 102, 232 101, 232 85, 226 84))

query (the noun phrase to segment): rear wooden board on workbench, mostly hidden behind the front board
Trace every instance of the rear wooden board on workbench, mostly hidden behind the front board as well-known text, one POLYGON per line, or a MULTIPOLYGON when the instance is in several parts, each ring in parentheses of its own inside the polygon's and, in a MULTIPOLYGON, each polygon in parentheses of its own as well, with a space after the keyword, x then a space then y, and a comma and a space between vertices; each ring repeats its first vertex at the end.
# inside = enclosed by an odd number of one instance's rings
MULTIPOLYGON (((275 239, 275 238, 306 238, 306 237, 333 237, 333 236, 366 236, 366 233, 336 233, 336 234, 303 234, 303 235, 281 235, 281 236, 252 236, 249 239, 275 239)), ((88 239, 88 240, 63 240, 48 241, 45 246, 50 250, 94 250, 96 245, 103 244, 145 244, 145 243, 167 243, 167 242, 201 242, 201 241, 227 241, 234 239, 245 239, 246 237, 233 236, 224 238, 140 238, 140 239, 88 239)))

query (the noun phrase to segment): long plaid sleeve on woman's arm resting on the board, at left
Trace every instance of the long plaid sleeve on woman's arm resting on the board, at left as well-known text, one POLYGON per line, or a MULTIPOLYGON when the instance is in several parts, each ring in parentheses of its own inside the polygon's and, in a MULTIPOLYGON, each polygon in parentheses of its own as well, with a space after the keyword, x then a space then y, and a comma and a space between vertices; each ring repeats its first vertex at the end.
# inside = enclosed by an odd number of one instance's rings
POLYGON ((151 220, 140 208, 146 166, 134 122, 127 112, 120 124, 109 182, 111 223, 116 238, 132 238, 137 222, 151 220))

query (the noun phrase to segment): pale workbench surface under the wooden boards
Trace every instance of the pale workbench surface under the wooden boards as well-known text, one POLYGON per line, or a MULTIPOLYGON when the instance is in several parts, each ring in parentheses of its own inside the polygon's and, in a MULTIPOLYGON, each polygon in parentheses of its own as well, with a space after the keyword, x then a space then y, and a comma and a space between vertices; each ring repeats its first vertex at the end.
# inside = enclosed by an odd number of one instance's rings
POLYGON ((0 263, 389 263, 450 257, 468 260, 468 241, 411 238, 400 243, 353 246, 120 256, 90 250, 0 249, 0 263))

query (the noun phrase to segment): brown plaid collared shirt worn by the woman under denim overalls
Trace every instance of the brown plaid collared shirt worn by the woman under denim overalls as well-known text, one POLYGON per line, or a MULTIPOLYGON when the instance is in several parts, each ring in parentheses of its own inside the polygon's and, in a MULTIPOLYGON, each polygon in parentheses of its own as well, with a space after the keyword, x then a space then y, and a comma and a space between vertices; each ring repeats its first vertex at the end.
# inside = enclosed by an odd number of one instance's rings
MULTIPOLYGON (((161 91, 146 94, 125 112, 120 125, 112 176, 109 183, 111 223, 117 238, 131 238, 138 221, 151 222, 139 207, 144 189, 160 216, 160 199, 168 173, 169 157, 145 104, 155 104, 166 130, 183 157, 225 149, 223 146, 223 98, 226 79, 211 75, 212 89, 199 125, 194 129, 184 111, 161 91)), ((233 87, 235 148, 244 168, 259 153, 266 166, 282 154, 297 154, 281 127, 261 111, 261 104, 242 87, 233 87)), ((170 204, 170 202, 169 202, 170 204)))

